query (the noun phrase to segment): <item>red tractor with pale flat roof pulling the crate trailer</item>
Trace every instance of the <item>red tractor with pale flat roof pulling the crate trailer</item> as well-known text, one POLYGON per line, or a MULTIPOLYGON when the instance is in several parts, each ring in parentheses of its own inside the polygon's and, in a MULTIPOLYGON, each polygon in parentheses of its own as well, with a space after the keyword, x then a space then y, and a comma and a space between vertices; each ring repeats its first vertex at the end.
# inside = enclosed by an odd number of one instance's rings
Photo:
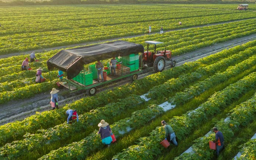
POLYGON ((170 50, 166 50, 165 48, 165 50, 156 51, 156 45, 163 42, 146 41, 145 43, 147 43, 147 51, 144 51, 142 54, 142 66, 153 66, 155 72, 161 72, 164 70, 166 60, 171 61, 171 67, 175 66, 176 61, 171 59, 170 50), (154 45, 154 52, 149 51, 149 44, 154 45))

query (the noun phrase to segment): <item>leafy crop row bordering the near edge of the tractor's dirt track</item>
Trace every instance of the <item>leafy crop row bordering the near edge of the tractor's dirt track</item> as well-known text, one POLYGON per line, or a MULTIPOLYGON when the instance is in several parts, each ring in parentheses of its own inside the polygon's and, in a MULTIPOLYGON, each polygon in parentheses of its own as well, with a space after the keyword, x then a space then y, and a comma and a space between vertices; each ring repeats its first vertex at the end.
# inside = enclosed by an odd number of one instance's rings
POLYGON ((154 85, 159 85, 164 83, 170 78, 175 78, 177 75, 182 75, 182 73, 193 72, 196 68, 201 65, 210 65, 216 61, 219 61, 225 57, 229 57, 234 53, 245 50, 247 47, 255 46, 256 41, 246 43, 242 46, 237 46, 229 50, 224 50, 213 56, 209 56, 198 60, 193 63, 186 63, 182 66, 175 67, 172 70, 166 70, 161 73, 150 75, 143 79, 138 79, 131 85, 124 85, 122 87, 117 87, 112 90, 106 90, 102 93, 95 95, 94 97, 85 97, 67 106, 63 109, 56 110, 55 112, 45 111, 43 113, 38 113, 23 121, 12 122, 0 126, 1 133, 1 145, 6 142, 11 142, 12 140, 19 140, 25 134, 25 132, 36 133, 37 129, 49 128, 54 125, 60 124, 61 121, 65 121, 65 116, 61 114, 68 108, 77 109, 78 113, 84 113, 93 109, 95 106, 102 106, 107 103, 113 102, 114 100, 121 98, 120 95, 130 95, 130 94, 144 94, 148 90, 141 92, 144 88, 152 88, 154 85), (140 92, 139 92, 140 91, 140 92), (111 96, 109 96, 111 95, 111 96), (85 105, 86 104, 86 105, 85 105), (47 120, 47 123, 44 121, 47 120), (58 121, 56 121, 58 120, 58 121))

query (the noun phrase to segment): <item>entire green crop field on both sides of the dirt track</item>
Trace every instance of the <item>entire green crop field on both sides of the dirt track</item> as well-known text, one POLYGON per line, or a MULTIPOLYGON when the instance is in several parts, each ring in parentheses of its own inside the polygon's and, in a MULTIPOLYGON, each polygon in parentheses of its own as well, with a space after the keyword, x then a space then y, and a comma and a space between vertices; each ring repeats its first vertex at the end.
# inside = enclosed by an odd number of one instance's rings
MULTIPOLYGON (((232 6, 1 7, 0 54, 144 34, 122 40, 142 45, 146 40, 164 42, 158 50, 166 46, 179 56, 255 35, 255 12, 237 11, 237 5, 232 6), (184 25, 177 25, 179 21, 184 25), (220 22, 228 23, 215 24, 220 22), (157 34, 145 34, 149 24, 157 34), (215 25, 198 27, 207 24, 215 25), (158 34, 160 26, 164 27, 164 34, 158 34), (166 32, 173 29, 177 30, 166 32)), ((47 78, 37 84, 36 70, 21 71, 21 63, 28 55, 1 58, 0 104, 57 87, 49 81, 46 61, 58 51, 37 53, 40 62, 30 63, 32 68, 42 67, 43 77, 47 78)), ((219 159, 233 159, 239 151, 241 159, 255 159, 255 140, 250 140, 256 133, 255 89, 253 40, 95 96, 85 96, 61 109, 1 125, 0 160, 215 159, 208 143, 214 139, 214 133, 209 132, 214 126, 225 138, 219 159), (67 109, 78 111, 78 123, 66 124, 67 109), (110 147, 102 145, 96 134, 102 119, 110 124, 117 138, 110 147), (161 120, 173 127, 177 147, 165 149, 160 145, 164 139, 161 120)))

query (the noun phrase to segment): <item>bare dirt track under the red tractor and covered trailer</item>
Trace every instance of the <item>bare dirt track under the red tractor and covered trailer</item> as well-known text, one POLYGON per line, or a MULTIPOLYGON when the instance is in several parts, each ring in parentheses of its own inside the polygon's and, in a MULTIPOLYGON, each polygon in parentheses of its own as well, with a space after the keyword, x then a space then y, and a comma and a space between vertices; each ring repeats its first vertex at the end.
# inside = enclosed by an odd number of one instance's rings
MULTIPOLYGON (((209 56, 211 54, 215 54, 221 50, 228 49, 230 47, 234 47, 237 45, 241 45, 243 43, 249 42, 251 40, 256 39, 256 34, 246 36, 243 38, 238 38, 235 40, 230 40, 224 43, 218 43, 216 45, 205 47, 196 51, 192 51, 181 56, 175 56, 173 59, 176 61, 176 66, 182 65, 188 61, 195 61, 199 58, 203 58, 209 56)), ((170 68, 170 62, 167 61, 166 69, 170 68)), ((138 78, 146 77, 147 75, 153 74, 153 68, 146 68, 139 75, 138 78)), ((129 79, 125 79, 110 85, 106 85, 102 88, 97 89, 97 93, 102 90, 109 89, 114 86, 122 85, 124 83, 130 83, 129 79)), ((65 104, 71 103, 75 100, 81 99, 81 97, 87 96, 82 91, 69 93, 68 89, 61 89, 59 92, 59 104, 60 107, 65 104)), ((50 107, 50 90, 48 92, 40 93, 34 97, 29 99, 22 100, 12 100, 6 104, 0 105, 1 113, 0 113, 0 125, 6 124, 8 122, 13 122, 16 120, 23 120, 26 117, 29 117, 36 113, 36 111, 42 112, 46 110, 51 110, 50 107)))

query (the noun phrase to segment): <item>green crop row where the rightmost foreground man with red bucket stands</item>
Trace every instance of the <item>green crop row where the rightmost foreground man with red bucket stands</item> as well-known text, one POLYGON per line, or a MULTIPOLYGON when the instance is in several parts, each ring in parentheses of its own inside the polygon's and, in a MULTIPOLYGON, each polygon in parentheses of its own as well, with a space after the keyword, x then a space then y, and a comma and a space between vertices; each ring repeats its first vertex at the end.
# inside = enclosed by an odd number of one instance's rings
MULTIPOLYGON (((235 136, 235 133, 241 128, 248 125, 255 119, 256 114, 256 95, 254 95, 248 101, 236 106, 228 114, 228 118, 225 120, 222 119, 219 121, 216 126, 223 132, 225 144, 232 142, 232 139, 235 136)), ((184 153, 179 157, 176 157, 176 160, 179 159, 191 159, 191 160, 209 160, 213 157, 214 152, 209 149, 209 141, 214 139, 214 134, 207 134, 204 137, 196 139, 192 145, 193 150, 196 150, 192 153, 184 153)))

